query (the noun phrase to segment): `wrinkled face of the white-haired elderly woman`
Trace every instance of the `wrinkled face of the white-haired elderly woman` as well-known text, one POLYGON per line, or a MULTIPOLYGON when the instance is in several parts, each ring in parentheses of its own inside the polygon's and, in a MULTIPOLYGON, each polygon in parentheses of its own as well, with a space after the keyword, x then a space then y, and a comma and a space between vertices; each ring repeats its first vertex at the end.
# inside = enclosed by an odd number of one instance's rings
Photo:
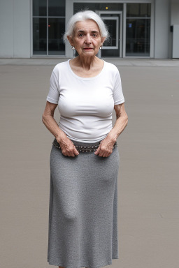
POLYGON ((101 37, 98 24, 94 20, 76 22, 73 37, 69 36, 69 42, 83 57, 95 56, 104 40, 105 38, 101 37))

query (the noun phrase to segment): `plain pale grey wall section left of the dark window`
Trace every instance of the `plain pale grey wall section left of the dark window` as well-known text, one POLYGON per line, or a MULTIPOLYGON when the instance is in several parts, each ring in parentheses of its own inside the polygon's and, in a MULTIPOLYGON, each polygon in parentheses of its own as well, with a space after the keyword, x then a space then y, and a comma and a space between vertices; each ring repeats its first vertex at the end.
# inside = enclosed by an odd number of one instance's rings
POLYGON ((30 57, 30 0, 0 1, 0 57, 30 57))

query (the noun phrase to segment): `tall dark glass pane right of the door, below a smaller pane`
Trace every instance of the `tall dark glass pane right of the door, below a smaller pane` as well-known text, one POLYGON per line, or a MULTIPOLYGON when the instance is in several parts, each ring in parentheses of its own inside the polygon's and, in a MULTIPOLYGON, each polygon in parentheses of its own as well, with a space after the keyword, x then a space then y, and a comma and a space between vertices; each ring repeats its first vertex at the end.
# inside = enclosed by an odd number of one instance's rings
POLYGON ((126 56, 150 56, 150 19, 127 19, 126 56))

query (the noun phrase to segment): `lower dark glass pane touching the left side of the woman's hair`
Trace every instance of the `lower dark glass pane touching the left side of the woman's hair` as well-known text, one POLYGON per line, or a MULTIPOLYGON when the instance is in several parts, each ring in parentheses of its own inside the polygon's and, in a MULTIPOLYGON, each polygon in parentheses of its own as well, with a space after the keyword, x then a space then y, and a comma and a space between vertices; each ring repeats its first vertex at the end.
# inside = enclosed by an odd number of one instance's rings
POLYGON ((64 55, 65 45, 63 43, 63 34, 65 32, 65 19, 48 19, 48 54, 64 55))

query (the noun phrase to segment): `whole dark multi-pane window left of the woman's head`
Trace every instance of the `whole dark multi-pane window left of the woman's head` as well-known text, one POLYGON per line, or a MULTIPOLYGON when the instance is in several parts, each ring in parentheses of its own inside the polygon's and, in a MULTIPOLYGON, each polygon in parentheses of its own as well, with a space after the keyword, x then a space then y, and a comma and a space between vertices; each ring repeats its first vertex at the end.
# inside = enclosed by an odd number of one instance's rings
POLYGON ((33 1, 33 54, 64 55, 65 0, 33 1))

